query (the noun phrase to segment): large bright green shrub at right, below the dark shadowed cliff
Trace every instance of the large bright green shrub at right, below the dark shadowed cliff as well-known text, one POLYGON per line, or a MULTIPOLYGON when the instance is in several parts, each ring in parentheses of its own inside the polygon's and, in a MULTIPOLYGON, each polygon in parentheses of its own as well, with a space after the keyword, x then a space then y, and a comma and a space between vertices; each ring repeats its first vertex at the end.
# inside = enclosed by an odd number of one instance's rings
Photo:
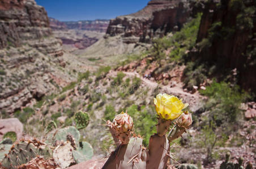
POLYGON ((246 95, 240 92, 239 86, 231 86, 226 82, 212 82, 206 90, 200 90, 200 94, 208 96, 206 109, 210 110, 210 120, 217 126, 228 126, 236 123, 240 115, 240 105, 245 101, 246 95))

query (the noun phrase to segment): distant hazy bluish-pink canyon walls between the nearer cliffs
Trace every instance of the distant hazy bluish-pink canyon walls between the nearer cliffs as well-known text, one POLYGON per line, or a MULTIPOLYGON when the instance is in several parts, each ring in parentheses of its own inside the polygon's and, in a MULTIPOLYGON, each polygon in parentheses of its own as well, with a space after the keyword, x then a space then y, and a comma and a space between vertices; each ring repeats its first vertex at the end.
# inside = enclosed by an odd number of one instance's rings
POLYGON ((61 39, 69 52, 83 50, 97 42, 104 36, 108 24, 108 20, 62 22, 50 18, 54 36, 61 39))

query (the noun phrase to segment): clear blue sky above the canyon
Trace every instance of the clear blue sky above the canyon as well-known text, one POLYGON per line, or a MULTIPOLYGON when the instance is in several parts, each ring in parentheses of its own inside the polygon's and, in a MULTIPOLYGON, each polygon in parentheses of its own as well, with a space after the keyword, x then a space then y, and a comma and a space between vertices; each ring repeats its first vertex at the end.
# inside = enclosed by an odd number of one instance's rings
POLYGON ((150 0, 36 0, 61 21, 112 19, 141 10, 150 0))

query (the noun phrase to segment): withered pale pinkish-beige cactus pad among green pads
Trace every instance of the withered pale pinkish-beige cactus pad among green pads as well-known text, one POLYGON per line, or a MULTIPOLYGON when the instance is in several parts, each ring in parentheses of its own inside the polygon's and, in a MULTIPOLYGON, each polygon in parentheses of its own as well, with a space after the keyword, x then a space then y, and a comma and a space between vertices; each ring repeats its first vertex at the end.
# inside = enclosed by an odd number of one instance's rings
POLYGON ((65 141, 58 145, 53 151, 54 162, 61 168, 66 168, 71 164, 74 164, 75 161, 72 155, 73 150, 74 148, 69 141, 65 141))

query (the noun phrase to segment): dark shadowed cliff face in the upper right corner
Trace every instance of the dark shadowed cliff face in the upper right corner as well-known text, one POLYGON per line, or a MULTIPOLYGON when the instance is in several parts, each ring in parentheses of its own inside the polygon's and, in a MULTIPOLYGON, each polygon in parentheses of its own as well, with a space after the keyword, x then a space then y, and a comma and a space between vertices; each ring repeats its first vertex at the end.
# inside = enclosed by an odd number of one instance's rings
POLYGON ((209 1, 205 6, 195 56, 224 72, 232 70, 238 84, 256 91, 255 1, 209 1))

